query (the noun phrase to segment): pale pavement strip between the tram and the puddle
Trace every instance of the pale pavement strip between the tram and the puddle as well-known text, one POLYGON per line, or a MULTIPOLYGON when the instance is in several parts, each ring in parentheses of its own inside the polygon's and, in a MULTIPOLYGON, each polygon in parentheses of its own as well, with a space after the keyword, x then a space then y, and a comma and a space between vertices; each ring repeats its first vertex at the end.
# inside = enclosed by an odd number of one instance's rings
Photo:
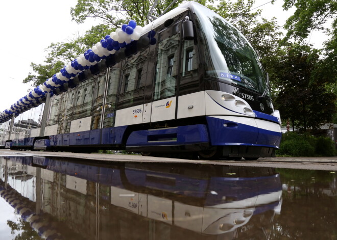
POLYGON ((150 162, 150 163, 189 163, 189 164, 211 164, 227 166, 248 167, 272 167, 289 169, 325 170, 337 172, 337 156, 334 157, 270 157, 259 158, 254 161, 227 161, 227 160, 191 160, 167 157, 152 157, 129 155, 129 154, 99 154, 99 153, 73 153, 73 152, 44 152, 44 151, 15 151, 0 149, 0 156, 45 156, 62 158, 79 158, 81 161, 100 162, 150 162))

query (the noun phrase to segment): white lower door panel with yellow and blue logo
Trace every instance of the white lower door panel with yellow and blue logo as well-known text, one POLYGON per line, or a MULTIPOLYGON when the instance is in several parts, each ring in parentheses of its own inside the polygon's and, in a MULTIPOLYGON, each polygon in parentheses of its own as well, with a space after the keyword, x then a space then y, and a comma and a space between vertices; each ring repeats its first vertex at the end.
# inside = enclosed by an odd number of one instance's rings
POLYGON ((152 102, 151 122, 171 120, 176 114, 176 97, 152 102))

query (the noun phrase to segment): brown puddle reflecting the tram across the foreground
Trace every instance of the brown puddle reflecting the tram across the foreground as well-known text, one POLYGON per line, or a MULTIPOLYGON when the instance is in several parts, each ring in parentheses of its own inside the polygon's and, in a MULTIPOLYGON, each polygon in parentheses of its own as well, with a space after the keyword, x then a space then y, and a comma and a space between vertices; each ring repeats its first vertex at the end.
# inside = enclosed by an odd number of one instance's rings
POLYGON ((1 239, 337 239, 333 171, 0 156, 1 239))

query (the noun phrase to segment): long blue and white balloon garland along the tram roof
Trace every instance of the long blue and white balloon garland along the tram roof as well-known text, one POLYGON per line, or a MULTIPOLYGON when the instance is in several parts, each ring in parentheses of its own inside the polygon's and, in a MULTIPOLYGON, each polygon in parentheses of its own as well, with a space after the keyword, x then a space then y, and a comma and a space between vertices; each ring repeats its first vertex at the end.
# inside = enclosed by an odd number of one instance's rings
MULTIPOLYGON (((45 102, 46 93, 51 97, 61 89, 65 83, 74 79, 81 72, 88 70, 91 66, 101 62, 109 56, 118 53, 118 50, 129 48, 131 44, 137 42, 143 33, 143 28, 137 25, 135 20, 130 20, 128 24, 123 24, 120 29, 106 35, 104 39, 87 49, 84 54, 80 54, 75 60, 69 62, 58 73, 48 78, 42 85, 34 88, 26 96, 10 106, 9 109, 0 113, 0 123, 7 122, 13 117, 24 113, 45 102)), ((150 31, 147 38, 151 45, 156 44, 155 31, 150 31)), ((142 44, 139 44, 142 46, 142 44)))

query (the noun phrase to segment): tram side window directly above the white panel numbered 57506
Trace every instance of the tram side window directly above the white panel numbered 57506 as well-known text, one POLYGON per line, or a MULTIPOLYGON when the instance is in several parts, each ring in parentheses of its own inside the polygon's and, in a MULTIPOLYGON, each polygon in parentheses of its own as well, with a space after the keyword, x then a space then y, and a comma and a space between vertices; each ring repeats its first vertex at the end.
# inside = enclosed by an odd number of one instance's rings
POLYGON ((127 58, 122 66, 123 77, 117 109, 128 108, 144 102, 148 53, 149 49, 144 49, 127 58))

